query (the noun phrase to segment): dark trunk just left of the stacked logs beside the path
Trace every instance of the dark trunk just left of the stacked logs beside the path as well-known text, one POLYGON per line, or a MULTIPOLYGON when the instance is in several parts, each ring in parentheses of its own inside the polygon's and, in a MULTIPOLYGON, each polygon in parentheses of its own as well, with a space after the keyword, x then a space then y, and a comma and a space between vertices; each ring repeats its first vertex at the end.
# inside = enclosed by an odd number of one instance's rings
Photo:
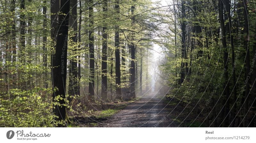
MULTIPOLYGON (((117 14, 116 20, 119 21, 119 0, 116 1, 115 10, 117 14)), ((116 57, 116 99, 122 100, 121 91, 121 72, 120 72, 120 47, 119 47, 119 26, 115 26, 115 57, 116 57)))

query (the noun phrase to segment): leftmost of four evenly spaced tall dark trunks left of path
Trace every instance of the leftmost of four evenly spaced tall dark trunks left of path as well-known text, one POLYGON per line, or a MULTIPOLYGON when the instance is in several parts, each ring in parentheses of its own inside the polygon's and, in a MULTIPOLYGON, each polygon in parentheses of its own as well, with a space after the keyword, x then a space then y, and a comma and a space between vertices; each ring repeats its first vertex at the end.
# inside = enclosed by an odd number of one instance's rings
POLYGON ((89 100, 94 102, 94 21, 93 21, 93 0, 89 0, 89 62, 90 62, 90 75, 89 75, 89 100))

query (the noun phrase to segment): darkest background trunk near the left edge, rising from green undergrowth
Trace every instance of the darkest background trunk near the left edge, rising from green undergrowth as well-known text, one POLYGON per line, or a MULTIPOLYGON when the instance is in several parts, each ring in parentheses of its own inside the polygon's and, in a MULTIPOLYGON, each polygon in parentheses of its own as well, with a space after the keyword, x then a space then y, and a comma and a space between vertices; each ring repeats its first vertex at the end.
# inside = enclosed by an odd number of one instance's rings
POLYGON ((25 63, 26 60, 26 51, 25 51, 25 0, 20 0, 20 61, 22 64, 25 63))

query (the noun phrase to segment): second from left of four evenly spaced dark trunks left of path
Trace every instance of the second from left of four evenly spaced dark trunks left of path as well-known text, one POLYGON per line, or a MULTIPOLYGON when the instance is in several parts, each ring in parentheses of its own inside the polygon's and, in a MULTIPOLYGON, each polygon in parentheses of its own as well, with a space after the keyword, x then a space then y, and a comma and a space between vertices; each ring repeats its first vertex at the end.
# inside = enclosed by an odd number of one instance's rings
MULTIPOLYGON (((108 2, 103 3, 103 17, 107 18, 108 2)), ((107 59, 108 59, 108 33, 107 24, 104 21, 102 27, 102 62, 101 62, 101 97, 102 100, 106 101, 108 96, 108 81, 107 81, 107 59)))

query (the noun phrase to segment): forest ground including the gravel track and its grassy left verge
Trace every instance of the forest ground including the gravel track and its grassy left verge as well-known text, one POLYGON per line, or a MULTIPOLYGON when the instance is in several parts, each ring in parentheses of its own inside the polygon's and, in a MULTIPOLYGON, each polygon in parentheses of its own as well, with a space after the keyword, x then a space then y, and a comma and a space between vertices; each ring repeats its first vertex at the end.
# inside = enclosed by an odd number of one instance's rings
MULTIPOLYGON (((80 127, 183 127, 184 107, 155 93, 108 106, 80 120, 80 127), (173 110, 175 109, 175 110, 173 110), (180 114, 182 112, 182 114, 180 114), (103 113, 103 114, 102 114, 103 113), (88 120, 89 119, 89 120, 88 120)), ((78 119, 79 120, 79 119, 78 119)))

